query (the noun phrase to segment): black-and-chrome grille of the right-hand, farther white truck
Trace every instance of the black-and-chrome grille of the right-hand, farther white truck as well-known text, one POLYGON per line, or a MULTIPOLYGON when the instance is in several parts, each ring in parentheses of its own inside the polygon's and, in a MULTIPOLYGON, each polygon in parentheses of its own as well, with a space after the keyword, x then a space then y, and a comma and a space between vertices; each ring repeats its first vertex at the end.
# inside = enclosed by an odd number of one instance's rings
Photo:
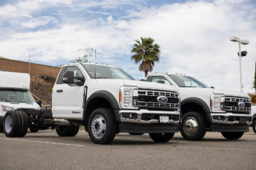
POLYGON ((221 97, 221 110, 241 111, 241 113, 251 111, 251 99, 239 97, 221 97), (244 108, 240 108, 238 106, 239 102, 243 102, 245 104, 244 108))

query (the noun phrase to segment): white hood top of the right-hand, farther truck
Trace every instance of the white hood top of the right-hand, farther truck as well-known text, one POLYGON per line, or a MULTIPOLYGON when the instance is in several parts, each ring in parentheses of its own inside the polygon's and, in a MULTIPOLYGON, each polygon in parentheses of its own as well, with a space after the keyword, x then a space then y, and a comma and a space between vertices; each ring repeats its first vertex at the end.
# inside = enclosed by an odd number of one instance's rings
POLYGON ((232 90, 223 90, 223 89, 211 89, 211 88, 200 88, 200 87, 185 87, 184 89, 189 91, 198 91, 198 92, 212 92, 212 94, 224 94, 225 96, 234 96, 234 97, 246 97, 249 98, 248 94, 244 92, 237 92, 232 90))

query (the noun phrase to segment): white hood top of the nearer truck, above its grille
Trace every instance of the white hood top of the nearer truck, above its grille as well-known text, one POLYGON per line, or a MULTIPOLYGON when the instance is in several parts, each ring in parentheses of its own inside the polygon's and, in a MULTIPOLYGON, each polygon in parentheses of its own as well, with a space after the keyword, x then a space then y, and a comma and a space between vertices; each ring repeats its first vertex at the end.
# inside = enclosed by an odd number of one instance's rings
POLYGON ((111 82, 111 83, 124 83, 124 85, 136 86, 141 89, 152 89, 152 90, 166 90, 177 92, 177 89, 173 85, 166 85, 163 83, 151 83, 148 81, 136 81, 136 80, 123 80, 123 79, 96 79, 98 82, 111 82))

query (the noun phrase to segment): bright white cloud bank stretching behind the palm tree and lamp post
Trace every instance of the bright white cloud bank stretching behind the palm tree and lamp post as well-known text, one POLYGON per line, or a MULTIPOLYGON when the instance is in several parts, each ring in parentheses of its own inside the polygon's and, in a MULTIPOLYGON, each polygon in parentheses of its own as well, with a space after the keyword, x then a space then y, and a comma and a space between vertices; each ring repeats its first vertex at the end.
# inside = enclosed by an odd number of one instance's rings
MULTIPOLYGON (((250 45, 241 46, 248 51, 248 56, 242 60, 243 84, 244 92, 254 92, 250 88, 256 57, 253 48, 256 45, 253 42, 256 39, 255 6, 250 1, 236 1, 246 9, 237 10, 234 1, 220 2, 198 1, 127 10, 128 15, 119 18, 113 18, 112 14, 106 19, 68 18, 73 20, 72 24, 61 23, 53 29, 0 36, 0 55, 28 59, 31 53, 32 60, 60 62, 81 55, 77 52, 79 48, 99 46, 103 62, 123 67, 137 78, 143 78, 139 65, 129 62, 131 47, 134 39, 152 37, 162 51, 161 62, 156 64, 154 72, 190 74, 216 88, 239 90, 238 44, 228 40, 230 36, 237 36, 250 41, 250 45)), ((111 3, 110 6, 115 4, 111 3)), ((81 4, 81 9, 84 5, 81 4)), ((88 3, 88 6, 96 5, 88 3)), ((32 28, 51 22, 56 19, 33 17, 22 25, 32 28)))

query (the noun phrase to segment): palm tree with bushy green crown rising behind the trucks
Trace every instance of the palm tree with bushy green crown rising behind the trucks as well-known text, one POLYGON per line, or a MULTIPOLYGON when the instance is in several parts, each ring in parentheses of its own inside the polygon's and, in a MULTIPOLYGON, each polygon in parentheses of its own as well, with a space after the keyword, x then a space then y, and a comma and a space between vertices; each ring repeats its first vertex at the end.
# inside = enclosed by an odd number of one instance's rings
POLYGON ((154 44, 155 39, 153 38, 142 38, 141 43, 138 39, 135 40, 136 44, 132 46, 131 60, 134 60, 135 64, 140 64, 140 71, 145 72, 145 77, 148 75, 148 71, 153 71, 155 62, 159 62, 160 59, 160 46, 154 44), (138 44, 137 44, 138 43, 138 44))

